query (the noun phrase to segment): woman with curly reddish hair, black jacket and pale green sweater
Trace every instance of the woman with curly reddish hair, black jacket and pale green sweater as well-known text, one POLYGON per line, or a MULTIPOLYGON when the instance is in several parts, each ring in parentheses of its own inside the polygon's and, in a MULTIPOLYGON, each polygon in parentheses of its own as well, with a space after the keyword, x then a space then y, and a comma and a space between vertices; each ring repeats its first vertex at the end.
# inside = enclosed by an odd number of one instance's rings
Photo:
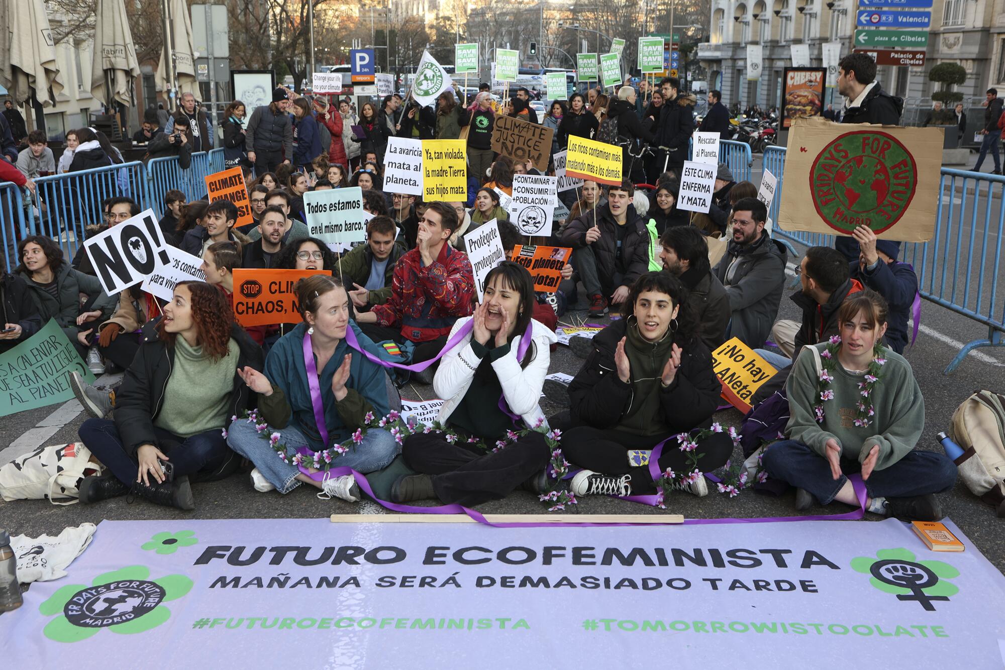
POLYGON ((233 473, 223 429, 252 407, 239 370, 261 369, 261 348, 234 321, 230 300, 203 281, 180 281, 164 316, 143 329, 116 394, 115 420, 87 419, 80 440, 110 473, 80 483, 80 502, 129 492, 194 509, 192 481, 233 473))

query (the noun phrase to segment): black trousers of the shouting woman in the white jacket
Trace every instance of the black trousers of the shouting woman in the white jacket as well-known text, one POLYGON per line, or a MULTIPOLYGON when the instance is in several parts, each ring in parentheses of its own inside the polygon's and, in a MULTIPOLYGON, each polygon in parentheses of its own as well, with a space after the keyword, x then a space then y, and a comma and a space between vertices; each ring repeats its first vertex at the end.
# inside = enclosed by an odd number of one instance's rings
POLYGON ((405 440, 401 455, 416 472, 432 475, 436 497, 446 504, 476 505, 499 500, 541 472, 551 458, 545 436, 532 431, 498 451, 482 451, 442 433, 416 433, 405 440))

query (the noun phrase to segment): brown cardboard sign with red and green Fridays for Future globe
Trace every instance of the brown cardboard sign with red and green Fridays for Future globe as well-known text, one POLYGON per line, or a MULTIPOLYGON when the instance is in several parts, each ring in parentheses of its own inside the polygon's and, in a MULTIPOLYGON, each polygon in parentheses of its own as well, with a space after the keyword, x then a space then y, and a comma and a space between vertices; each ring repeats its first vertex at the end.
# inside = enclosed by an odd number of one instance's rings
POLYGON ((796 119, 778 224, 838 235, 865 225, 882 239, 931 240, 942 147, 937 128, 796 119))

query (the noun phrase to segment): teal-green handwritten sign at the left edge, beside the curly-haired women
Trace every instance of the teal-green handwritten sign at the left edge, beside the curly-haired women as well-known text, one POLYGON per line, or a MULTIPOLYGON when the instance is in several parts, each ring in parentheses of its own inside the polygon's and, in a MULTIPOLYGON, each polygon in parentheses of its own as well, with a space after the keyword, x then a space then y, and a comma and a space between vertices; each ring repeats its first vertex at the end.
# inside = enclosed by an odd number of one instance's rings
POLYGON ((73 400, 71 372, 94 383, 76 348, 50 318, 38 332, 0 354, 0 417, 73 400))

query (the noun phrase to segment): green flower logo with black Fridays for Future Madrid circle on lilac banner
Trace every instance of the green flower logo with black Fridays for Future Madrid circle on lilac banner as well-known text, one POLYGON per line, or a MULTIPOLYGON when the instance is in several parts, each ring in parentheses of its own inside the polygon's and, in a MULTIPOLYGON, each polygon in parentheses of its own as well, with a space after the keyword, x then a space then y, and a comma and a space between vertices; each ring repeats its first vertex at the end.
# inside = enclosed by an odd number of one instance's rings
POLYGON ((152 582, 149 577, 147 567, 128 566, 98 575, 90 587, 62 587, 38 606, 45 616, 59 615, 42 632, 55 642, 79 642, 103 628, 124 635, 157 628, 171 618, 171 610, 163 603, 181 598, 192 590, 193 583, 184 575, 168 575, 152 582))

